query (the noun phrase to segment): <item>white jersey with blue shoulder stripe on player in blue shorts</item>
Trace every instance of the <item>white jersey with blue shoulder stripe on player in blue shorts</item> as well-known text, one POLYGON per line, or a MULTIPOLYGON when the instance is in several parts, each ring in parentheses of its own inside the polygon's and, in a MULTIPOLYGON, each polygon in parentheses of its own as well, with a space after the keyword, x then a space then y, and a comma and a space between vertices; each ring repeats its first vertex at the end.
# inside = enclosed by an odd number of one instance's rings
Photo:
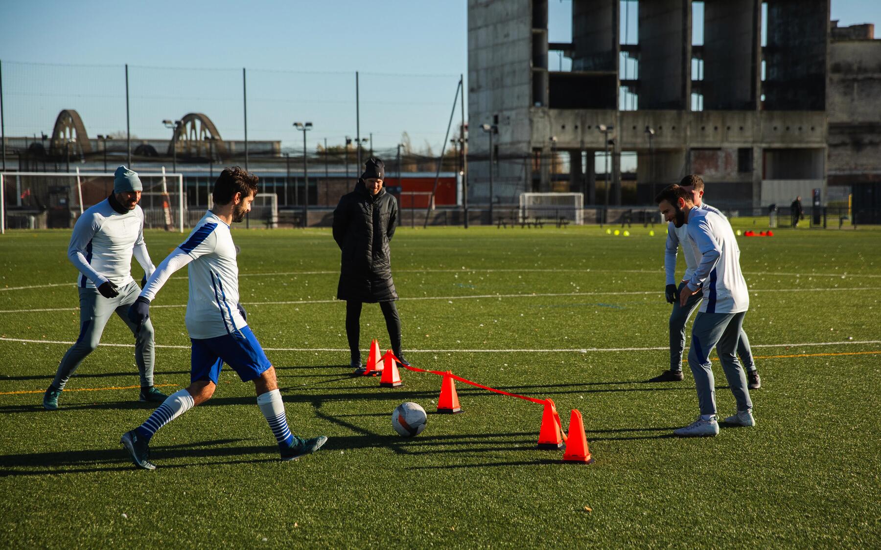
POLYGON ((239 266, 230 227, 209 210, 189 237, 170 253, 147 282, 141 296, 152 300, 175 271, 189 264, 186 324, 196 340, 236 334, 248 323, 239 303, 239 266))

